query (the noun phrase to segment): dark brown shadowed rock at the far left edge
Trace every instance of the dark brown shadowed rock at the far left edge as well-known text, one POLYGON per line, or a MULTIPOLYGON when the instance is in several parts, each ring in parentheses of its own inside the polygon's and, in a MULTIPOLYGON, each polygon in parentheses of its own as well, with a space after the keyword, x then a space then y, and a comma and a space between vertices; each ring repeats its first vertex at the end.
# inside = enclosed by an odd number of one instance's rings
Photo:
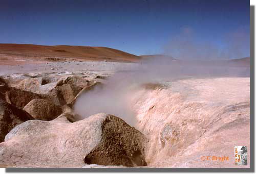
POLYGON ((6 134, 15 126, 29 119, 34 118, 26 111, 0 99, 0 142, 4 141, 6 134))

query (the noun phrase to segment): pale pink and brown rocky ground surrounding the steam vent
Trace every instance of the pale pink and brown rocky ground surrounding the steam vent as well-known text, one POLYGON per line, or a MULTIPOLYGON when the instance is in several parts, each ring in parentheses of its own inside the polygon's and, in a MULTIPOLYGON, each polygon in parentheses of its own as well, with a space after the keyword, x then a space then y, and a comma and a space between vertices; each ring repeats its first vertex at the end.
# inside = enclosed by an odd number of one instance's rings
POLYGON ((233 157, 236 145, 250 152, 248 77, 167 78, 140 84, 129 94, 133 127, 121 115, 84 118, 76 112, 77 98, 104 88, 115 72, 136 66, 141 65, 0 65, 2 167, 250 166, 249 156, 247 166, 235 166, 233 157), (207 156, 229 160, 203 160, 207 156))

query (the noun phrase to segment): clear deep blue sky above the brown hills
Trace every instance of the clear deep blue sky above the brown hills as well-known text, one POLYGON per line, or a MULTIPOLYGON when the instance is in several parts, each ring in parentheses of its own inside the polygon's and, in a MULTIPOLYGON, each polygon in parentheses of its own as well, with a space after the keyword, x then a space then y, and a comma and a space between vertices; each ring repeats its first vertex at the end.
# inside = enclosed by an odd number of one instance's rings
POLYGON ((189 30, 197 43, 218 48, 227 47, 228 41, 242 42, 247 45, 242 55, 249 56, 249 0, 1 0, 0 22, 0 43, 106 46, 136 55, 161 54, 189 30), (237 33, 247 39, 230 39, 237 33))

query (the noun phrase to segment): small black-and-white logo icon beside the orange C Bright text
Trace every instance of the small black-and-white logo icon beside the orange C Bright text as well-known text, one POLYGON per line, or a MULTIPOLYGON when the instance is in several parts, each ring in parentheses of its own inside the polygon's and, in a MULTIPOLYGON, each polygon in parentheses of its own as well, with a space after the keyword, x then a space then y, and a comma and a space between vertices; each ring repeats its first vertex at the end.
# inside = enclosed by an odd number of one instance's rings
POLYGON ((234 146, 234 165, 247 165, 247 146, 234 146))

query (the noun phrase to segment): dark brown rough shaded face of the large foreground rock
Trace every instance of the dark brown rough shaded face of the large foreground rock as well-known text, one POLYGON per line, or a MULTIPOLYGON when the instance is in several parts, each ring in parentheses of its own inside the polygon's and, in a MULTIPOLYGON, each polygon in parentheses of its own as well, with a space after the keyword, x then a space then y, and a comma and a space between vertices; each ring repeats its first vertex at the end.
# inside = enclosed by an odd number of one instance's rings
POLYGON ((101 128, 102 140, 84 158, 85 163, 127 167, 146 165, 139 131, 113 115, 106 117, 101 128))

